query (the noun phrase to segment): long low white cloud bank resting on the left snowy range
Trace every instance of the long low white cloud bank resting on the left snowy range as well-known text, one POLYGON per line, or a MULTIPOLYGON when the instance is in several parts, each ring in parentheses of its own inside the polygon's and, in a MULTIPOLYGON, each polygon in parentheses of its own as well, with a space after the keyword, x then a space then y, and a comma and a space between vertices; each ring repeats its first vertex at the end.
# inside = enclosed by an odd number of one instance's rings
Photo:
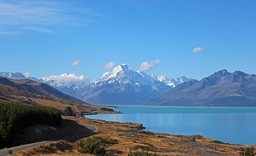
POLYGON ((80 87, 85 87, 92 82, 95 82, 93 79, 86 79, 84 75, 76 75, 74 73, 68 74, 65 76, 58 76, 58 75, 51 75, 51 76, 45 76, 42 79, 49 79, 49 80, 56 80, 58 82, 63 82, 65 84, 74 84, 80 86, 80 87))

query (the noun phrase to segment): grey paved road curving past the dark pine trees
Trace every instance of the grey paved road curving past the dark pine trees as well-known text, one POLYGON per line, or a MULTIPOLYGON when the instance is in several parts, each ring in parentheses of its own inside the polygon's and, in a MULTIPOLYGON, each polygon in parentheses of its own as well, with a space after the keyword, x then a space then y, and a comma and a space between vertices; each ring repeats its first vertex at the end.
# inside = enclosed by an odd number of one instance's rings
POLYGON ((44 144, 52 143, 52 142, 59 141, 59 140, 66 140, 66 139, 70 139, 70 138, 76 138, 76 137, 88 135, 88 134, 91 134, 91 133, 93 133, 93 132, 95 132, 97 130, 96 127, 88 125, 88 124, 81 124, 81 125, 83 125, 85 127, 88 127, 90 130, 86 131, 84 133, 73 135, 73 136, 69 136, 69 137, 57 138, 57 139, 53 139, 53 140, 42 141, 42 142, 38 142, 38 143, 22 145, 22 146, 14 147, 14 148, 9 148, 9 149, 6 149, 4 151, 0 151, 0 156, 8 155, 8 150, 12 150, 12 153, 14 153, 14 152, 25 150, 25 149, 28 149, 28 148, 31 148, 31 147, 35 147, 35 146, 39 146, 39 145, 44 145, 44 144))

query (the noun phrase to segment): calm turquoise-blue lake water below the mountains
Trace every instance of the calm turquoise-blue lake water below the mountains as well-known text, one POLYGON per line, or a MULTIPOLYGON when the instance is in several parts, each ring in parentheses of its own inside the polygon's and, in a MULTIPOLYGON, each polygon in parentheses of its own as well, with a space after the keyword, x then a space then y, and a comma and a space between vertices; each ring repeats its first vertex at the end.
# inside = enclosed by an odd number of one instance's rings
POLYGON ((225 143, 256 145, 256 107, 126 107, 122 114, 85 117, 141 123, 145 131, 201 134, 225 143))

